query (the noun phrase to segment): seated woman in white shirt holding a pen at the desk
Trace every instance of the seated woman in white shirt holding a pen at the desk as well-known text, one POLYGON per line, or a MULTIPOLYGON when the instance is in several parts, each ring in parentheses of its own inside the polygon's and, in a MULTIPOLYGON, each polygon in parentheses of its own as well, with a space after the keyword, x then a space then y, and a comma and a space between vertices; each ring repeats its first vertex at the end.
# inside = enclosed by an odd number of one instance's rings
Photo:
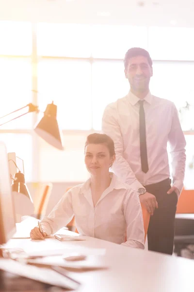
MULTIPOLYGON (((44 236, 54 234, 75 216, 81 235, 144 249, 142 209, 137 193, 109 168, 115 160, 113 140, 94 133, 85 143, 85 165, 90 179, 71 188, 48 217, 41 221, 44 236), (127 230, 127 241, 125 235, 127 230)), ((38 227, 32 239, 44 239, 38 227)))

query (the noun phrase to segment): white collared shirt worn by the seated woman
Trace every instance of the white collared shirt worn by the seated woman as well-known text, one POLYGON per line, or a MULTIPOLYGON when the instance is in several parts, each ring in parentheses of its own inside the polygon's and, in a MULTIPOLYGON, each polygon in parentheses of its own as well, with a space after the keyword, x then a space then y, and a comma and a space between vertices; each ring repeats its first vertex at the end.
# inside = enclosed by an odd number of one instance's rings
POLYGON ((144 249, 144 223, 139 198, 129 185, 113 173, 110 186, 94 207, 90 179, 71 188, 57 203, 42 229, 54 234, 75 216, 81 235, 112 241, 124 246, 144 249), (125 235, 127 231, 127 241, 125 235))

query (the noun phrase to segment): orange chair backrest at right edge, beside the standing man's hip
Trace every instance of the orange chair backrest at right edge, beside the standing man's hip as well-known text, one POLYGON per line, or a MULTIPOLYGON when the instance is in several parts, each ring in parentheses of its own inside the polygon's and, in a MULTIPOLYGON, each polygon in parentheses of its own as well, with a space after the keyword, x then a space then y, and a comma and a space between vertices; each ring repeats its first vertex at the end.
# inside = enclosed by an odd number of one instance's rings
POLYGON ((194 213, 194 190, 183 188, 177 203, 177 213, 194 213))

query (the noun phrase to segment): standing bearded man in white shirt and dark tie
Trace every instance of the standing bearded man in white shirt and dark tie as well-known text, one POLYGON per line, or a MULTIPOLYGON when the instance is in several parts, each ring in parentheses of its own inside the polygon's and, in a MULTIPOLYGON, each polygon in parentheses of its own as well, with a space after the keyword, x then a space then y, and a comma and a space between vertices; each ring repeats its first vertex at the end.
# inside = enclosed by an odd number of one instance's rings
POLYGON ((124 66, 130 91, 106 107, 102 131, 114 141, 113 171, 137 190, 151 215, 148 249, 172 255, 175 213, 185 171, 184 134, 175 105, 149 91, 153 74, 149 53, 129 49, 124 66), (172 185, 167 142, 171 146, 172 185))

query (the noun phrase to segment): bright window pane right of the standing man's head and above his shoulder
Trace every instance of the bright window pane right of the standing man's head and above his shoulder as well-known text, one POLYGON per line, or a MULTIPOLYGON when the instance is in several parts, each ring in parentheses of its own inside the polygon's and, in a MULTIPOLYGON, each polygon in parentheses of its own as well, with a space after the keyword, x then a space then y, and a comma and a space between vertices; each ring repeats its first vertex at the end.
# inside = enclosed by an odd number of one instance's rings
POLYGON ((194 128, 194 88, 193 62, 162 62, 154 61, 153 77, 150 90, 159 97, 171 100, 177 109, 185 106, 186 101, 191 105, 190 111, 182 111, 181 124, 183 130, 194 128))

